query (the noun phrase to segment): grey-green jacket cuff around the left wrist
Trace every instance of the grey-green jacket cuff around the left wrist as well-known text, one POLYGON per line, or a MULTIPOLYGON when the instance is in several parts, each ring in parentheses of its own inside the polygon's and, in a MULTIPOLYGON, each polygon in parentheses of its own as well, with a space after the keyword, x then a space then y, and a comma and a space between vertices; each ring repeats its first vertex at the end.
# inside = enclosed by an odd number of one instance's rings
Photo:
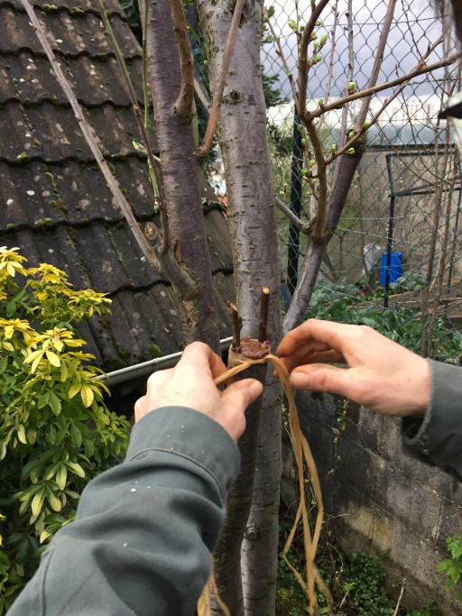
POLYGON ((215 478, 223 497, 239 473, 239 450, 225 428, 189 407, 155 409, 135 424, 125 462, 155 451, 198 464, 215 478))

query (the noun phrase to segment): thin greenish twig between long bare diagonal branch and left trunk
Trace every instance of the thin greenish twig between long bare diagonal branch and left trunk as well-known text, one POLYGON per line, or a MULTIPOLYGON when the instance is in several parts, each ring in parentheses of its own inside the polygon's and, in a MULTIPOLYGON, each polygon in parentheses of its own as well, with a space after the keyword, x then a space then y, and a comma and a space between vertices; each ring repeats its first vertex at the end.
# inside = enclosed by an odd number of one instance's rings
MULTIPOLYGON (((148 0, 146 0, 145 5, 147 5, 147 2, 148 0)), ((158 195, 159 204, 158 205, 159 205, 159 210, 161 212, 161 224, 162 224, 161 252, 162 254, 165 254, 169 250, 169 223, 168 223, 168 218, 167 218, 167 211, 165 209, 165 199, 163 198, 161 174, 159 172, 159 168, 157 167, 156 161, 154 160, 154 156, 152 154, 151 143, 149 141, 149 136, 148 136, 148 133, 146 132, 146 128, 144 125, 145 118, 143 121, 141 111, 140 111, 140 106, 138 105, 138 100, 134 92, 132 80, 126 68, 124 55, 115 38, 115 34, 112 29, 111 23, 109 22, 109 19, 107 18, 106 9, 105 9, 103 0, 97 0, 97 5, 99 7, 99 16, 101 17, 101 21, 106 28, 106 33, 109 38, 109 41, 111 41, 112 47, 114 49, 115 59, 117 60, 117 64, 119 65, 119 68, 122 71, 122 75, 124 76, 125 87, 128 92, 128 96, 130 97, 130 101, 132 102, 132 106, 134 108, 134 117, 136 118, 136 124, 138 126, 138 130, 143 140, 144 150, 148 158, 148 164, 154 174, 155 183, 157 184, 157 187, 159 190, 159 195, 158 195)), ((144 106, 146 106, 146 100, 144 100, 144 106)))

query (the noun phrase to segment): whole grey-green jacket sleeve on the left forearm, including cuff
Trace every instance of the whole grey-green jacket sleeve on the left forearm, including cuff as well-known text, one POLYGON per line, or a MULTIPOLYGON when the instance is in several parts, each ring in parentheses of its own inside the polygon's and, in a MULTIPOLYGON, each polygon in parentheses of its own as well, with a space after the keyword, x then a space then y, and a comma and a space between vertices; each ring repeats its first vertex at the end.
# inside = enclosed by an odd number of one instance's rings
POLYGON ((125 462, 88 483, 10 616, 190 616, 238 470, 236 444, 213 419, 148 413, 125 462))

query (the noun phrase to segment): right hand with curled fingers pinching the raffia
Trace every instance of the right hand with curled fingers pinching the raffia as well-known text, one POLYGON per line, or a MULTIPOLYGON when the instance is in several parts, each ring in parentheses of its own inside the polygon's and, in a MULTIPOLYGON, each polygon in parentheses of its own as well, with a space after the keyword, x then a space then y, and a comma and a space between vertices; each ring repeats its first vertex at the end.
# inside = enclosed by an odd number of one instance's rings
POLYGON ((311 318, 284 336, 276 354, 297 389, 337 393, 385 415, 423 417, 428 408, 429 363, 372 327, 311 318))

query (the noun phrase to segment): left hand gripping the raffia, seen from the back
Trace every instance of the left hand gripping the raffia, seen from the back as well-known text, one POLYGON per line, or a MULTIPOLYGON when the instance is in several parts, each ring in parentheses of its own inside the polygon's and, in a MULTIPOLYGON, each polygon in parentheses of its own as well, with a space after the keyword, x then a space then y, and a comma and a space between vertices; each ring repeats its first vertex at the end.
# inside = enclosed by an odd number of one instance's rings
POLYGON ((161 407, 189 407, 215 419, 236 441, 245 430, 245 409, 262 394, 263 385, 243 379, 220 391, 213 380, 225 371, 225 364, 208 345, 192 343, 174 368, 149 377, 146 395, 134 405, 134 420, 161 407))

